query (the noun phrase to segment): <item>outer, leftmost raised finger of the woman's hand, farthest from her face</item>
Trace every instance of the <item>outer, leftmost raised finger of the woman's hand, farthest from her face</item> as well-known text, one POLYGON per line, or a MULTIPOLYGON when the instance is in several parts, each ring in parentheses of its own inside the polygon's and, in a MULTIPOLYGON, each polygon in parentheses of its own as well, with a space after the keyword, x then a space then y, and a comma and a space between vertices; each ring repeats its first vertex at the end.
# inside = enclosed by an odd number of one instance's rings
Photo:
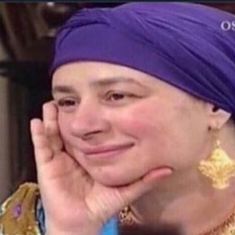
POLYGON ((52 160, 53 151, 49 146, 45 128, 40 119, 31 120, 30 129, 34 145, 35 160, 38 167, 52 160))

